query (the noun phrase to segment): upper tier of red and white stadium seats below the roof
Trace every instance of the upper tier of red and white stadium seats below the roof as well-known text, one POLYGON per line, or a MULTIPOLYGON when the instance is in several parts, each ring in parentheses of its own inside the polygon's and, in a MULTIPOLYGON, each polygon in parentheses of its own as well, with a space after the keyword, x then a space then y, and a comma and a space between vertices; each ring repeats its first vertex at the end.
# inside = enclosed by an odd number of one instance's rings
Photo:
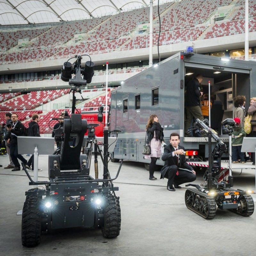
MULTIPOLYGON (((250 32, 256 31, 255 6, 256 0, 250 0, 250 32)), ((200 39, 208 39, 244 33, 243 0, 173 1, 161 4, 159 12, 161 15, 159 45, 193 41, 199 37, 200 39), (208 28, 205 22, 212 17, 218 7, 228 5, 235 6, 228 15, 228 19, 219 21, 208 28)), ((2 52, 0 52, 0 65, 21 61, 66 58, 73 54, 85 52, 92 54, 145 48, 149 46, 148 31, 136 31, 136 27, 148 22, 149 7, 144 7, 112 16, 68 22, 51 28, 24 30, 26 33, 23 30, 1 32, 3 44, 2 52), (84 39, 78 42, 74 40, 75 34, 84 33, 86 33, 84 39), (25 37, 30 40, 27 47, 21 48, 18 52, 4 55, 4 51, 17 46, 19 38, 25 39, 25 37), (68 41, 71 44, 67 46, 68 41)), ((158 33, 158 12, 157 6, 154 6, 154 46, 157 45, 158 33)))

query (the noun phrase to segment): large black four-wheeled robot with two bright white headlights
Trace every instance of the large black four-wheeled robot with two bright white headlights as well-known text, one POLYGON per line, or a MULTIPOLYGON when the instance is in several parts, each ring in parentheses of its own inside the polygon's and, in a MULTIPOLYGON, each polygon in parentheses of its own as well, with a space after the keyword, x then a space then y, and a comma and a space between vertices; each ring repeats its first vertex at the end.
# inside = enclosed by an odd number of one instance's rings
MULTIPOLYGON (((95 138, 92 124, 87 126, 81 114, 74 114, 75 92, 80 92, 80 85, 86 84, 81 81, 80 56, 77 57, 75 65, 76 77, 69 80, 73 90, 72 114, 70 118, 63 120, 60 153, 49 155, 49 181, 32 180, 22 163, 30 180, 29 185, 43 187, 25 192, 21 227, 23 246, 36 246, 40 244, 41 233, 49 233, 52 229, 59 228, 101 228, 102 235, 106 238, 114 238, 120 233, 121 209, 119 197, 115 194, 118 187, 114 187, 112 181, 118 177, 123 159, 116 177, 111 179, 108 171, 108 127, 104 130, 104 143, 100 144, 95 138), (87 148, 87 154, 81 154, 87 127, 90 136, 86 138, 86 142, 87 145, 90 142, 91 147, 87 148), (98 179, 98 175, 95 175, 95 179, 90 176, 93 145, 94 162, 98 162, 98 153, 103 162, 103 179, 98 179), (99 145, 104 147, 103 152, 99 145)), ((113 132, 117 136, 119 131, 113 132)))

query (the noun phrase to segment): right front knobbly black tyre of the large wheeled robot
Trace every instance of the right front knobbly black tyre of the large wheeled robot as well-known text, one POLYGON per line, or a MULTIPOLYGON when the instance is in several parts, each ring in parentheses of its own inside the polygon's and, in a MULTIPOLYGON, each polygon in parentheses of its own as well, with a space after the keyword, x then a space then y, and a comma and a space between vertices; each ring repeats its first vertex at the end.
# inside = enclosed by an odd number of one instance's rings
POLYGON ((119 236, 121 229, 121 209, 118 197, 108 196, 107 206, 104 209, 104 224, 101 228, 105 238, 119 236))

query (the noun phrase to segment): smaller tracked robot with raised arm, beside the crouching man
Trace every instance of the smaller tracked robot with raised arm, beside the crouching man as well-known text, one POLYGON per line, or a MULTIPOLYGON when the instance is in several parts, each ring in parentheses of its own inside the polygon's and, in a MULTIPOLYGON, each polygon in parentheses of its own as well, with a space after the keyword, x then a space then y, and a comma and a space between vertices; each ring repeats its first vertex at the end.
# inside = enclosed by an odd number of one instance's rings
MULTIPOLYGON (((208 133, 209 168, 204 174, 204 182, 201 186, 194 184, 186 185, 186 187, 195 187, 188 188, 185 192, 186 206, 204 219, 213 219, 216 215, 217 207, 221 210, 231 210, 242 216, 250 216, 254 212, 252 196, 241 189, 232 189, 233 177, 231 175, 228 176, 227 181, 218 182, 215 178, 220 174, 220 159, 222 154, 227 151, 227 147, 218 137, 217 133, 206 125, 208 121, 206 120, 196 119, 194 127, 190 128, 190 131, 199 129, 200 132, 208 133), (212 138, 216 141, 213 151, 211 145, 212 138), (211 151, 212 154, 210 153, 211 151), (214 156, 218 157, 217 165, 213 165, 214 156)), ((234 124, 231 123, 230 125, 233 126, 234 124)), ((229 132, 231 131, 232 129, 229 129, 229 132)))

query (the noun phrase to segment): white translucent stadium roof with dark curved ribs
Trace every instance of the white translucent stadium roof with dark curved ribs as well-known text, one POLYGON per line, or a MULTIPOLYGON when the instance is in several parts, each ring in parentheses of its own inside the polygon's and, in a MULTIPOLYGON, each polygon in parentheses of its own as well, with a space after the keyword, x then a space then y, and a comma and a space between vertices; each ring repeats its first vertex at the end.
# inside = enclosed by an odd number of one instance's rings
MULTIPOLYGON (((153 2, 157 4, 158 0, 153 2)), ((160 0, 159 4, 163 2, 167 1, 160 0)), ((150 0, 0 0, 0 25, 84 20, 146 7, 149 3, 150 0)))

